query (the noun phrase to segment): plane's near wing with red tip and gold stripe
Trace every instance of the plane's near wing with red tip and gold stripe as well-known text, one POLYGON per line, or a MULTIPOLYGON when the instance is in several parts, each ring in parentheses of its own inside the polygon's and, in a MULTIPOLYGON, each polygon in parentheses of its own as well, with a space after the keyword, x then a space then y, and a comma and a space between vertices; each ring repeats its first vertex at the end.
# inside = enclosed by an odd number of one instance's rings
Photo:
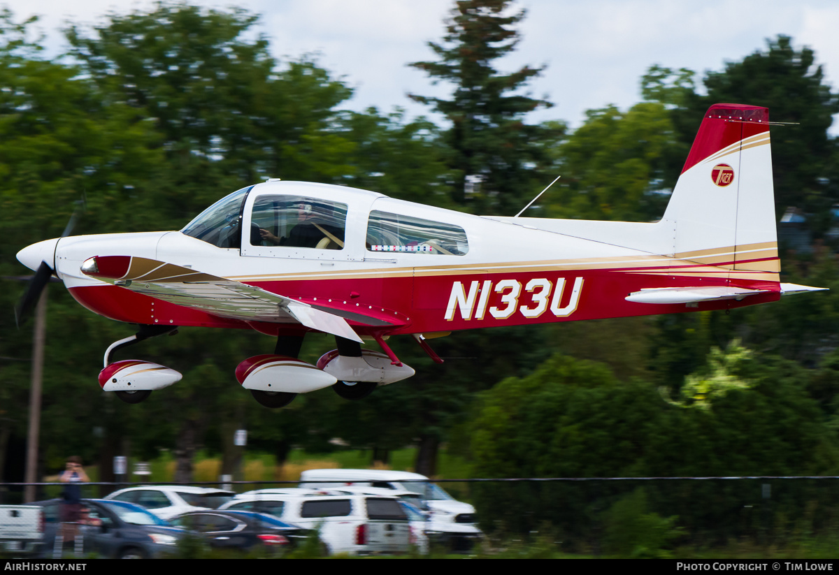
POLYGON ((308 303, 224 277, 145 257, 96 256, 81 272, 103 282, 222 318, 298 323, 359 343, 362 339, 340 316, 308 303))

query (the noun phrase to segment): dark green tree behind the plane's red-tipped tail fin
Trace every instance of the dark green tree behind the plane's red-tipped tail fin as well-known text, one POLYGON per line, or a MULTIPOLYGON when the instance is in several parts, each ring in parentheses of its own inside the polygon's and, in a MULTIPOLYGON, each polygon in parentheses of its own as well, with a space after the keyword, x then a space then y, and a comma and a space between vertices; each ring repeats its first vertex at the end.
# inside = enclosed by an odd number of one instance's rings
POLYGON ((682 153, 690 148, 711 104, 767 106, 771 121, 795 122, 772 127, 775 213, 780 219, 787 207, 795 206, 811 215, 810 229, 817 234, 827 231, 830 208, 839 201, 836 141, 827 133, 839 112, 839 95, 826 84, 816 53, 807 47, 795 49, 789 36, 779 35, 767 41, 767 49, 727 62, 722 71, 708 72, 703 84, 704 96, 688 89, 684 73, 654 68, 644 77, 645 96, 675 105, 671 116, 681 145, 672 148, 667 186, 675 185, 684 165, 682 153), (661 85, 670 90, 659 90, 661 85))

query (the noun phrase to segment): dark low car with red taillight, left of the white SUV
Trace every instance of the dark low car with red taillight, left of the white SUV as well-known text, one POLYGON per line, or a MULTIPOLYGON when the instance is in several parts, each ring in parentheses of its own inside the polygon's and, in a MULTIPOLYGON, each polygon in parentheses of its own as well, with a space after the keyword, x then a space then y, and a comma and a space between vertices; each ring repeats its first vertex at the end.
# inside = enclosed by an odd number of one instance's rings
POLYGON ((280 521, 274 515, 237 510, 190 511, 172 525, 200 533, 210 547, 251 552, 263 549, 280 555, 301 545, 310 530, 280 521))

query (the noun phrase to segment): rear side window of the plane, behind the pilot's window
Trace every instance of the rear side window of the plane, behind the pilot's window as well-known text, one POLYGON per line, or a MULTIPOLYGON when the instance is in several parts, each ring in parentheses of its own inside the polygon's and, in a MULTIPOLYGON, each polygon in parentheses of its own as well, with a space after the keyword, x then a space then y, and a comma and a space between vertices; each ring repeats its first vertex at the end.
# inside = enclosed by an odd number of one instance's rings
POLYGON ((469 242, 459 225, 373 210, 367 222, 367 251, 463 256, 469 242))

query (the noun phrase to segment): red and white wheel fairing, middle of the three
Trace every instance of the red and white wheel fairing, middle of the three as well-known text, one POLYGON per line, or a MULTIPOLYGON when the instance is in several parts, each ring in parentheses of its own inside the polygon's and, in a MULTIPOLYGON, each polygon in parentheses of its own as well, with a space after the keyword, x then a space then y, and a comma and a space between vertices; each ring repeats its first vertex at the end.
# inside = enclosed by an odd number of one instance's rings
POLYGON ((336 378, 303 360, 285 355, 254 355, 236 368, 236 379, 245 389, 308 393, 333 386, 336 378))

